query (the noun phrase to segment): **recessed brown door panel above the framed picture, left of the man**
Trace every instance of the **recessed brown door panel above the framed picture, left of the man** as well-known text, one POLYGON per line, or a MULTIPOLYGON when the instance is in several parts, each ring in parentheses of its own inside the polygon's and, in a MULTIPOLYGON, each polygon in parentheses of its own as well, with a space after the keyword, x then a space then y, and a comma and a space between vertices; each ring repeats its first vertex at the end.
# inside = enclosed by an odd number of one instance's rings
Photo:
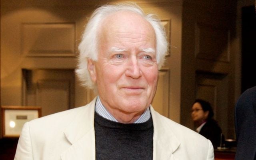
POLYGON ((25 106, 42 107, 42 116, 74 108, 74 70, 23 70, 25 106))

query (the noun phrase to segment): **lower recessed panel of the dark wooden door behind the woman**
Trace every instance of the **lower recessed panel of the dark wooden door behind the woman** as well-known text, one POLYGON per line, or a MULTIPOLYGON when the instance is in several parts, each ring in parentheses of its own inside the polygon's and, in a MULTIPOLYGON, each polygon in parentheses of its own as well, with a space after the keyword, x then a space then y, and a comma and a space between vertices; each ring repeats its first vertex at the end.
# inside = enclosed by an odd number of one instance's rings
POLYGON ((230 113, 228 112, 228 76, 216 73, 196 74, 196 98, 210 102, 214 112, 214 119, 222 128, 225 136, 230 136, 227 126, 230 113))

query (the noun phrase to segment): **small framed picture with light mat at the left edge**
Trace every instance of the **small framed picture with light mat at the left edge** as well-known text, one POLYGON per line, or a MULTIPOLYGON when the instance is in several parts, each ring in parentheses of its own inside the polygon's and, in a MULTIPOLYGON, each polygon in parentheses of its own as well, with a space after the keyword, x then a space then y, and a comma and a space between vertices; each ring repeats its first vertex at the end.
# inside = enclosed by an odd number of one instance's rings
POLYGON ((41 117, 41 107, 1 106, 2 136, 19 137, 25 122, 41 117))

